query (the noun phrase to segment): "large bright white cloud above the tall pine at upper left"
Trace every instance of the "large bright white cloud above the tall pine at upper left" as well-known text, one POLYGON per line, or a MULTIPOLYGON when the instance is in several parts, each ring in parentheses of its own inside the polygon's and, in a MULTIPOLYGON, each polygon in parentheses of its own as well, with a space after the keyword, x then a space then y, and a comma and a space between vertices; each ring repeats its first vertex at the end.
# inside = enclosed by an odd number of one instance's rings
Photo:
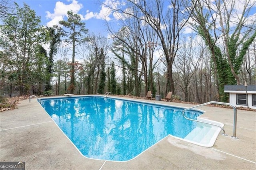
POLYGON ((63 2, 56 2, 54 13, 50 13, 46 11, 46 18, 51 19, 46 25, 53 26, 59 25, 59 21, 63 20, 64 16, 67 16, 67 12, 72 10, 74 13, 78 13, 78 11, 83 7, 82 4, 78 3, 76 0, 72 0, 71 4, 64 4, 63 2))

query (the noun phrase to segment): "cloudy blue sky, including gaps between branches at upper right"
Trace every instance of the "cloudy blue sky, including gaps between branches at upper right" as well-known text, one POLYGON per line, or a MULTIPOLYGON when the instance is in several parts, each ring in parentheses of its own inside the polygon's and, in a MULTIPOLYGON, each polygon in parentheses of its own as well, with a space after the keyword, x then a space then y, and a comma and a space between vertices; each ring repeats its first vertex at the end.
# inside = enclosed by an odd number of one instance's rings
MULTIPOLYGON (((89 30, 89 33, 95 33, 97 35, 100 33, 102 36, 108 37, 108 31, 106 27, 106 22, 111 23, 110 25, 118 28, 118 12, 110 10, 104 4, 111 6, 113 8, 118 8, 124 5, 125 0, 14 0, 21 7, 23 3, 26 3, 32 10, 36 12, 36 16, 41 17, 42 26, 53 26, 59 25, 60 20, 67 19, 67 11, 72 10, 74 13, 77 13, 81 16, 82 22, 86 23, 86 29, 89 30)), ((149 0, 150 1, 150 0, 149 0)), ((168 1, 169 2, 169 1, 168 1)), ((214 2, 214 1, 212 1, 214 2)), ((229 1, 227 1, 229 2, 229 1)), ((234 23, 237 23, 237 16, 242 14, 243 10, 242 0, 237 0, 235 3, 235 13, 231 15, 231 20, 234 20, 234 23), (233 17, 233 19, 232 19, 233 17)), ((244 1, 245 2, 245 1, 244 1)), ((256 0, 250 0, 249 2, 255 3, 256 0)), ((230 5, 231 3, 227 3, 230 5)), ((250 11, 249 18, 252 18, 252 21, 256 17, 256 4, 254 8, 250 11)), ((168 8, 168 6, 166 6, 168 8)), ((191 19, 192 20, 192 19, 191 19)), ((231 26, 231 25, 230 25, 231 26)), ((218 29, 220 26, 217 25, 218 29)), ((184 28, 183 34, 191 35, 193 31, 189 27, 184 28)), ((188 37, 188 36, 186 36, 188 37)), ((198 37, 195 37, 198 38, 198 37)), ((154 57, 158 59, 161 53, 159 51, 154 52, 154 57)))

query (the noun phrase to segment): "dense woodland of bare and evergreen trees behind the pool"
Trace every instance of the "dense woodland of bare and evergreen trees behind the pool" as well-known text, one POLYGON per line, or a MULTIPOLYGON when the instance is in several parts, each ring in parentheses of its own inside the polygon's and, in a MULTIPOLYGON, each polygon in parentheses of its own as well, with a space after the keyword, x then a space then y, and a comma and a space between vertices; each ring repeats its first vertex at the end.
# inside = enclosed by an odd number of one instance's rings
POLYGON ((72 11, 60 26, 46 27, 27 4, 0 0, 0 95, 172 91, 182 101, 227 102, 224 85, 256 85, 255 6, 126 0, 122 8, 108 6, 121 24, 106 21, 105 37, 72 11))

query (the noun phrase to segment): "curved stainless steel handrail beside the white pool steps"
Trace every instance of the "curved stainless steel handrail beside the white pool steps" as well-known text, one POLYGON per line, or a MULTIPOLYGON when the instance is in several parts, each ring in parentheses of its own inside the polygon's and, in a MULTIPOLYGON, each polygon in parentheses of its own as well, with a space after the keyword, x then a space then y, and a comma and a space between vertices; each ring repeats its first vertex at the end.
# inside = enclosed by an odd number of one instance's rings
POLYGON ((183 117, 184 117, 185 119, 188 119, 188 120, 190 120, 190 121, 195 121, 195 122, 200 122, 200 123, 206 123, 206 124, 209 124, 209 125, 217 126, 217 127, 219 127, 219 128, 222 129, 222 131, 223 131, 222 135, 228 136, 228 135, 226 134, 224 128, 221 127, 220 125, 215 125, 215 124, 208 123, 208 122, 203 122, 203 121, 198 121, 198 120, 195 120, 195 119, 190 119, 190 118, 187 118, 187 117, 185 116, 185 114, 184 114, 185 111, 188 111, 188 110, 190 110, 190 109, 194 109, 194 108, 196 108, 196 107, 200 107, 200 106, 204 106, 204 105, 208 105, 208 104, 212 104, 212 103, 214 103, 214 104, 219 104, 219 105, 229 105, 229 106, 231 106, 231 107, 234 109, 234 127, 233 127, 233 136, 231 136, 231 137, 238 139, 238 137, 236 137, 237 109, 236 109, 236 107, 235 107, 234 105, 232 105, 232 104, 230 104, 230 103, 224 103, 224 102, 218 102, 218 101, 209 101, 209 102, 203 103, 203 104, 201 104, 201 105, 196 105, 196 106, 194 106, 194 107, 190 107, 190 108, 184 109, 184 110, 182 111, 182 115, 183 115, 183 117))

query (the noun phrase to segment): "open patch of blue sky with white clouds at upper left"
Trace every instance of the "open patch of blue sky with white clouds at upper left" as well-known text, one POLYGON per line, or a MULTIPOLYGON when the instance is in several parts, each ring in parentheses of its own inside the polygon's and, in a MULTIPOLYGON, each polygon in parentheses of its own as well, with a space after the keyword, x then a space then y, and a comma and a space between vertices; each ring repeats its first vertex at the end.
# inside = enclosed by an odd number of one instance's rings
POLYGON ((80 14, 82 21, 86 23, 89 32, 107 34, 105 19, 115 20, 104 4, 113 5, 119 3, 112 0, 16 0, 20 6, 26 3, 37 16, 41 17, 43 26, 53 26, 60 20, 66 20, 68 10, 80 14))

